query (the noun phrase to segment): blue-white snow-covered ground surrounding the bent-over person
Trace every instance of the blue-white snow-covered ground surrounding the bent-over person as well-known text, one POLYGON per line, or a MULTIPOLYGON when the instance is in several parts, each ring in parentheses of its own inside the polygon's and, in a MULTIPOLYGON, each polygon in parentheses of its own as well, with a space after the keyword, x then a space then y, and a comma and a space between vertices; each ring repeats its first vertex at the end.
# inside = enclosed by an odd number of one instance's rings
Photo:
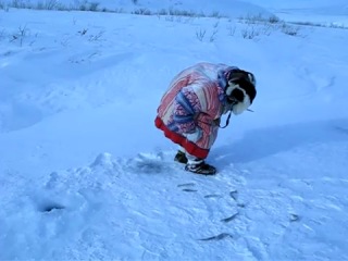
POLYGON ((239 18, 346 26, 344 1, 138 2, 229 18, 0 10, 0 260, 348 260, 348 30, 239 18), (215 176, 153 125, 200 61, 258 79, 215 176))

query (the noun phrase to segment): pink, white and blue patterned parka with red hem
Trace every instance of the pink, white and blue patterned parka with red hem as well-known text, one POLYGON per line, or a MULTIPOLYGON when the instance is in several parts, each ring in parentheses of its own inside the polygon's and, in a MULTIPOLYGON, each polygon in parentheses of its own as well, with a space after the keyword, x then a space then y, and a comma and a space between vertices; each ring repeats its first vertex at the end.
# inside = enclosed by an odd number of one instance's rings
POLYGON ((214 144, 226 102, 226 75, 237 67, 198 63, 181 72, 161 99, 156 126, 186 152, 206 159, 214 144))

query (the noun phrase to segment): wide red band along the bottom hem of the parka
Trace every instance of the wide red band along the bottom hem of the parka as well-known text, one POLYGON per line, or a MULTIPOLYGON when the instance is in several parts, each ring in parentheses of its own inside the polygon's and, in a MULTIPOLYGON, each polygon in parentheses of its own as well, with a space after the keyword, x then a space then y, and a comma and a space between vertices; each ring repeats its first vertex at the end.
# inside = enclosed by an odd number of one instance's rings
POLYGON ((195 156, 199 159, 206 159, 208 157, 208 153, 209 153, 208 149, 202 149, 198 147, 196 144, 186 139, 184 136, 172 132, 165 126, 165 124, 160 117, 158 116, 156 117, 154 125, 159 129, 163 130, 165 137, 171 139, 174 144, 182 146, 189 154, 195 156))

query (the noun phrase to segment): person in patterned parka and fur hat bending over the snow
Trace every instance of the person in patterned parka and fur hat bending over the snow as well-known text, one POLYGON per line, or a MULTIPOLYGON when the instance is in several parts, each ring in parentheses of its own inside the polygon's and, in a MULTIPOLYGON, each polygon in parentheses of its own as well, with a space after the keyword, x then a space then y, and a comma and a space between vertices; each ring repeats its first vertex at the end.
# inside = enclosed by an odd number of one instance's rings
MULTIPOLYGON (((198 63, 174 77, 161 99, 154 124, 181 146, 174 160, 185 170, 213 175, 216 169, 204 159, 214 144, 220 119, 240 114, 256 98, 252 73, 225 64, 198 63)), ((225 126, 224 126, 225 127, 225 126)))

